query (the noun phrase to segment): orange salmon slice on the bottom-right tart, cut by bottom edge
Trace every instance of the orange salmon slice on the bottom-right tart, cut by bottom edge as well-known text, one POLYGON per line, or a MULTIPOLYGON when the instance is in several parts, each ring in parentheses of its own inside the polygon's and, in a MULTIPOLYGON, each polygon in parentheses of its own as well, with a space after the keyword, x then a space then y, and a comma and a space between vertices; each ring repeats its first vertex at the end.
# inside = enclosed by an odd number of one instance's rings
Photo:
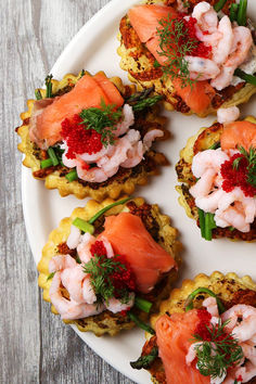
POLYGON ((159 357, 164 363, 167 384, 206 384, 209 376, 203 376, 195 363, 188 366, 185 355, 191 345, 191 338, 200 323, 196 309, 183 313, 162 316, 155 332, 159 357))

